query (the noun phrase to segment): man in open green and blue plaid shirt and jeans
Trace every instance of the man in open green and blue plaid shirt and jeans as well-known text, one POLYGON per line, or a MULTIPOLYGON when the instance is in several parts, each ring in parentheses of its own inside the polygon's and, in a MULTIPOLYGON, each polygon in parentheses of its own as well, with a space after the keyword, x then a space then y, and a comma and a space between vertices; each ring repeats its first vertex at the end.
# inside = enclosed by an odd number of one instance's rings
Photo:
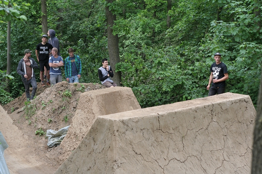
POLYGON ((65 58, 65 78, 69 83, 79 82, 82 72, 80 57, 74 55, 73 48, 68 49, 69 56, 65 58))

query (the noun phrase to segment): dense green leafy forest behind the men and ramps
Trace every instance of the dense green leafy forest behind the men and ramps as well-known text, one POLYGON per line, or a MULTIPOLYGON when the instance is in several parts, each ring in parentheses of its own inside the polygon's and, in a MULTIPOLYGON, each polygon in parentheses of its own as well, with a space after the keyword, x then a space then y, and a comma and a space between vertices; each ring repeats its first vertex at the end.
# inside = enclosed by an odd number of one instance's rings
MULTIPOLYGON (((33 50, 37 61, 36 45, 47 34, 41 1, 0 0, 0 69, 3 75, 8 69, 10 21, 10 75, 15 77, 7 82, 1 76, 1 104, 24 93, 16 73, 24 50, 33 50), (8 8, 20 14, 7 15, 3 10, 8 8)), ((100 83, 98 68, 109 58, 121 77, 113 80, 132 88, 142 108, 206 97, 210 65, 220 52, 229 72, 225 92, 249 95, 256 107, 262 60, 260 0, 47 0, 46 7, 47 26, 56 31, 63 59, 69 47, 81 58, 81 83, 100 83), (106 10, 113 14, 112 27, 107 27, 106 10), (108 44, 109 29, 119 50, 108 44)), ((35 73, 39 77, 39 70, 35 73)))

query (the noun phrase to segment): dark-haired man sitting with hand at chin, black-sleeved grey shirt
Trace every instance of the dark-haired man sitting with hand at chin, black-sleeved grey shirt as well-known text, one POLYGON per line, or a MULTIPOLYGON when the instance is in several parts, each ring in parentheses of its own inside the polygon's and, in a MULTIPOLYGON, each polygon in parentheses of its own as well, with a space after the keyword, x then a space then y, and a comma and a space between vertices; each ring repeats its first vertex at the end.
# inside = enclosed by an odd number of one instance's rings
POLYGON ((116 83, 114 83, 114 81, 110 78, 114 77, 114 73, 112 68, 108 65, 108 60, 102 59, 102 65, 103 66, 98 69, 98 77, 102 85, 107 88, 117 86, 116 83))

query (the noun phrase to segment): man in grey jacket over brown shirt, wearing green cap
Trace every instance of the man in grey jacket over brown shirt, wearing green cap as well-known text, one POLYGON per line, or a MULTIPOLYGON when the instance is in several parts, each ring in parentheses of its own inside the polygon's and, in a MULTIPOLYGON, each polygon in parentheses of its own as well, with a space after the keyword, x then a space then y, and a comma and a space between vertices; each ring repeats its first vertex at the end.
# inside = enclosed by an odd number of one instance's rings
POLYGON ((29 49, 24 50, 24 58, 18 63, 16 72, 21 75, 22 82, 24 82, 24 88, 26 92, 27 101, 32 100, 36 94, 36 75, 34 69, 38 69, 38 64, 31 58, 31 52, 29 49), (30 97, 30 84, 33 87, 30 97))

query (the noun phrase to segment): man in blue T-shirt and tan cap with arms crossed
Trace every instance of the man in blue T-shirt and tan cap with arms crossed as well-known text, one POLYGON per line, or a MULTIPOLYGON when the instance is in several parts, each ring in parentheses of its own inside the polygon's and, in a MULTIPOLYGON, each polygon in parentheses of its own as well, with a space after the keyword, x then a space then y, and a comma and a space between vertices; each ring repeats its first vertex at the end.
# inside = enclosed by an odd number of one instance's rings
POLYGON ((49 58, 50 66, 50 81, 52 85, 55 85, 62 81, 61 66, 64 66, 63 58, 57 55, 57 48, 52 49, 52 55, 49 58))

